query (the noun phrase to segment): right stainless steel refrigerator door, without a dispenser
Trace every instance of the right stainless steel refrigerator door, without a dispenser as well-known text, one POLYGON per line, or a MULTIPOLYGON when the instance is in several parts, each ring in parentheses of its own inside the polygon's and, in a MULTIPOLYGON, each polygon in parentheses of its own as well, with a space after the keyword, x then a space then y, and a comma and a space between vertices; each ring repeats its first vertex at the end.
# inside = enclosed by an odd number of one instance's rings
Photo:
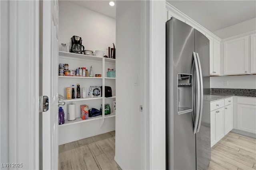
MULTIPOLYGON (((210 52, 209 40, 196 30, 196 53, 199 54, 204 84, 204 96, 210 94, 210 52)), ((200 131, 196 133, 197 170, 206 170, 211 158, 210 147, 210 101, 205 97, 202 105, 200 131)))

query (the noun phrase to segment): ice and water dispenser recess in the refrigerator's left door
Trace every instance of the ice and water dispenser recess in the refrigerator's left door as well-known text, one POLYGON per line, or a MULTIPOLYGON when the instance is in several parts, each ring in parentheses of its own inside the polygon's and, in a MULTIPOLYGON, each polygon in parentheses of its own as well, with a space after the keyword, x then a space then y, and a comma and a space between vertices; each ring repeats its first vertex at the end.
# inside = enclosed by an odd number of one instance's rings
POLYGON ((192 74, 177 74, 178 80, 178 114, 193 111, 192 74))

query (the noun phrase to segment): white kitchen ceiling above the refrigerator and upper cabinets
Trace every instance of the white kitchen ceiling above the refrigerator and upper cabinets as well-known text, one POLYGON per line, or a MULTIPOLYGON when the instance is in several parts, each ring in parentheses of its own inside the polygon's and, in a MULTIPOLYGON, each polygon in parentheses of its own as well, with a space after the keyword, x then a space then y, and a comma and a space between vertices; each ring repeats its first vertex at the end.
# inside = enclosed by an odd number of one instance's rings
POLYGON ((256 18, 255 0, 167 0, 211 32, 256 18))

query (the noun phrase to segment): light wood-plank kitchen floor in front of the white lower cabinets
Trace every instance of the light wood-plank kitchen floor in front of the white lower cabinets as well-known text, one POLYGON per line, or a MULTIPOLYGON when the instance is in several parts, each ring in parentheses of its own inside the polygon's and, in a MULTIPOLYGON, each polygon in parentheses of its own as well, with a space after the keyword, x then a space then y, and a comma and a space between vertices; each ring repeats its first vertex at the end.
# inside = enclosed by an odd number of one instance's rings
POLYGON ((208 170, 256 169, 256 140, 228 133, 212 147, 208 170))

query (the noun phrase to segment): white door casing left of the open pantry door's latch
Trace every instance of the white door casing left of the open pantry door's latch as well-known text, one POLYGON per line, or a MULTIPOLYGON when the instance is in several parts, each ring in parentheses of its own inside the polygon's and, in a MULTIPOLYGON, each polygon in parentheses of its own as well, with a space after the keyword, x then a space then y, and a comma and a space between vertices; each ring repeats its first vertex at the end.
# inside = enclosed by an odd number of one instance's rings
POLYGON ((9 14, 9 162, 39 169, 39 2, 10 1, 9 14))

